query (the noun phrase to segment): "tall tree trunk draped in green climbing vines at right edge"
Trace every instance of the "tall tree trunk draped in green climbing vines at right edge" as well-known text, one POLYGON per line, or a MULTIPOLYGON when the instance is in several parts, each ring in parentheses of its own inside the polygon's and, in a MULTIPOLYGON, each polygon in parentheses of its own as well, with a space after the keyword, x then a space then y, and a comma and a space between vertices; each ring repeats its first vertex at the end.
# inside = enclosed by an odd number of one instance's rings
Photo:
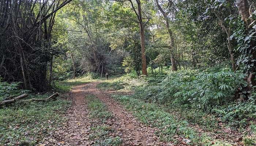
MULTIPOLYGON (((252 87, 256 85, 255 75, 256 75, 256 20, 255 14, 252 14, 252 9, 247 0, 236 0, 238 12, 241 15, 243 23, 241 23, 242 28, 237 30, 237 38, 239 43, 239 50, 241 52, 241 62, 245 65, 245 72, 247 77, 245 78, 248 85, 246 87, 246 95, 250 94, 252 87), (244 38, 244 39, 241 39, 244 38)), ((256 13, 256 12, 254 12, 256 13)), ((243 92, 244 93, 244 92, 243 92)), ((246 97, 246 98, 247 98, 246 97)))

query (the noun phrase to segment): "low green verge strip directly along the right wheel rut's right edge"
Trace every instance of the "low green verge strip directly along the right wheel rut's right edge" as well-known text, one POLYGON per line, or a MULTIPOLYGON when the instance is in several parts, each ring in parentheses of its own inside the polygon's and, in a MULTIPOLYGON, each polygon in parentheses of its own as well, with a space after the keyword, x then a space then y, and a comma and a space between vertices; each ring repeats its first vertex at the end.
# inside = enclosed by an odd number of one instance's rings
POLYGON ((230 143, 221 140, 213 142, 207 133, 193 127, 188 120, 179 119, 175 113, 166 112, 167 109, 158 104, 146 103, 131 96, 113 95, 112 97, 124 105, 144 124, 158 128, 159 130, 156 131, 156 134, 161 141, 180 144, 182 141, 189 140, 188 145, 232 146, 230 143))

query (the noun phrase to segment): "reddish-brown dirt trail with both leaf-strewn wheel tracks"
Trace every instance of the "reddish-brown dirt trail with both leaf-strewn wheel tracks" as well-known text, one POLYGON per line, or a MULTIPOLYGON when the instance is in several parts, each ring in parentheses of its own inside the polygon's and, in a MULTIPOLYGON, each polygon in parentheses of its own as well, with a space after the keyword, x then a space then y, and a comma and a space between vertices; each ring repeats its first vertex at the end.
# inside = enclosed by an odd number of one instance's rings
POLYGON ((86 95, 92 94, 106 104, 113 118, 108 120, 115 133, 113 136, 119 136, 123 141, 123 146, 165 146, 159 142, 158 137, 154 135, 156 129, 144 126, 136 120, 134 116, 124 109, 120 104, 114 101, 108 92, 102 92, 96 88, 99 82, 91 82, 79 85, 73 88, 71 96, 74 103, 67 112, 68 122, 61 127, 58 132, 53 134, 58 140, 53 139, 54 143, 63 146, 86 146, 93 142, 89 141, 90 127, 95 121, 89 119, 87 110, 86 95))

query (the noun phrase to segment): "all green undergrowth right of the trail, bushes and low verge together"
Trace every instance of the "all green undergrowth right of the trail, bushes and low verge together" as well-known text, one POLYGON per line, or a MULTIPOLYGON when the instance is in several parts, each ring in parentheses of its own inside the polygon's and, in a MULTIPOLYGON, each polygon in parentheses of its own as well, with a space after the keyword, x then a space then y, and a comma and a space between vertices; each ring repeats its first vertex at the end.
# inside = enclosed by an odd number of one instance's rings
POLYGON ((195 145, 229 146, 232 142, 228 139, 218 140, 210 135, 225 137, 230 134, 226 130, 231 129, 243 137, 238 145, 254 145, 256 93, 252 92, 246 102, 233 101, 238 86, 246 85, 243 78, 242 72, 233 73, 228 68, 180 70, 147 77, 129 73, 105 81, 98 88, 116 88, 126 83, 119 90, 132 91, 133 95, 115 98, 143 123, 158 127, 163 141, 176 142, 175 135, 181 135, 195 145))

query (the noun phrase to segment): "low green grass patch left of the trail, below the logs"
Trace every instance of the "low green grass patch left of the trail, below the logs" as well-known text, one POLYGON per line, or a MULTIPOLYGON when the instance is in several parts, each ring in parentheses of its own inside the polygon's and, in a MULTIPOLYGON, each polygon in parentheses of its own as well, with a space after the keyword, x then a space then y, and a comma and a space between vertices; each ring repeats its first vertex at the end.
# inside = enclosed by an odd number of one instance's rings
POLYGON ((0 109, 0 145, 34 146, 66 119, 70 102, 16 103, 0 109))

